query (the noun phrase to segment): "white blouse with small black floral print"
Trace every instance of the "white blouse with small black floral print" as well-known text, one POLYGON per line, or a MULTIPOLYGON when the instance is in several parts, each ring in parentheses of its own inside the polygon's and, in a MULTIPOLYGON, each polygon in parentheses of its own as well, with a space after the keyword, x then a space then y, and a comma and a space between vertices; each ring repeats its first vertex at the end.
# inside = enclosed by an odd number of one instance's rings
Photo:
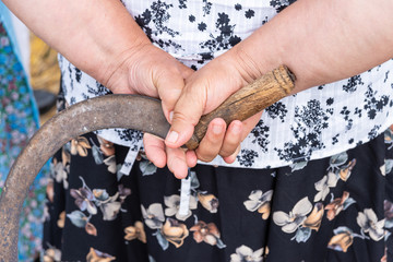
MULTIPOLYGON (((263 26, 294 0, 123 0, 154 45, 192 69, 225 52, 263 26)), ((110 93, 59 56, 67 102, 110 93)), ((393 123, 393 61, 332 84, 286 97, 269 107, 248 138, 235 167, 275 168, 332 156, 366 143, 393 123)), ((130 146, 126 168, 142 146, 142 134, 98 132, 130 146)), ((219 157, 211 165, 227 166, 219 157)), ((127 171, 127 170, 126 170, 127 171)))

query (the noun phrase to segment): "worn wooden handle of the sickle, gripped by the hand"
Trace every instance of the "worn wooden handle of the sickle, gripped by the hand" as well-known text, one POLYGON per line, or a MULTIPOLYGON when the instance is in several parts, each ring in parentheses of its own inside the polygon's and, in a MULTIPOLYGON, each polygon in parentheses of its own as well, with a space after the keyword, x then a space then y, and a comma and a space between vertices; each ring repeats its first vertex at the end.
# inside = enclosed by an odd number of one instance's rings
POLYGON ((243 121, 287 96, 295 87, 295 75, 285 66, 262 75, 229 96, 222 105, 201 117, 187 148, 195 150, 214 118, 223 118, 227 126, 234 120, 243 121))

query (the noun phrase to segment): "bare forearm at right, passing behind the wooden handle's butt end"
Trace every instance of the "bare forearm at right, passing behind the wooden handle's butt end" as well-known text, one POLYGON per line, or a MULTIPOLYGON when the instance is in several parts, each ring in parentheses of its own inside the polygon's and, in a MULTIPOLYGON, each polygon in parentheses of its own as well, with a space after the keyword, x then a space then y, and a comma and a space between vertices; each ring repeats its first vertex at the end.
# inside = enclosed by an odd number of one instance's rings
POLYGON ((294 93, 361 73, 393 55, 390 0, 299 0, 233 48, 245 78, 284 63, 294 93))

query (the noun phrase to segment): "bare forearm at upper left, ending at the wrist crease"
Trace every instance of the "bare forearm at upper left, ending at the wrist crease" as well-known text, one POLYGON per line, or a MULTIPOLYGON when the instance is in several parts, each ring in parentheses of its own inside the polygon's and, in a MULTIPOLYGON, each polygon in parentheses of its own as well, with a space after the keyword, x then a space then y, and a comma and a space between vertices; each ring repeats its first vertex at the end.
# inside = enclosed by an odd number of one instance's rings
POLYGON ((3 0, 37 36, 103 84, 143 44, 143 31, 116 0, 3 0))

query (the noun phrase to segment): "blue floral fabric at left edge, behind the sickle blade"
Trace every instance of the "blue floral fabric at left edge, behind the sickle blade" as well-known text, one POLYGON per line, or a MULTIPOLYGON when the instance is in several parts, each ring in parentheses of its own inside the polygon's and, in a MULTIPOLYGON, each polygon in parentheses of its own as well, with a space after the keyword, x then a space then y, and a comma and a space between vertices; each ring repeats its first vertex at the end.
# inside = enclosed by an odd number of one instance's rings
MULTIPOLYGON (((39 126, 39 114, 21 63, 10 11, 0 1, 0 191, 10 167, 39 126)), ((33 261, 41 251, 46 165, 24 202, 20 219, 19 260, 33 261)))

